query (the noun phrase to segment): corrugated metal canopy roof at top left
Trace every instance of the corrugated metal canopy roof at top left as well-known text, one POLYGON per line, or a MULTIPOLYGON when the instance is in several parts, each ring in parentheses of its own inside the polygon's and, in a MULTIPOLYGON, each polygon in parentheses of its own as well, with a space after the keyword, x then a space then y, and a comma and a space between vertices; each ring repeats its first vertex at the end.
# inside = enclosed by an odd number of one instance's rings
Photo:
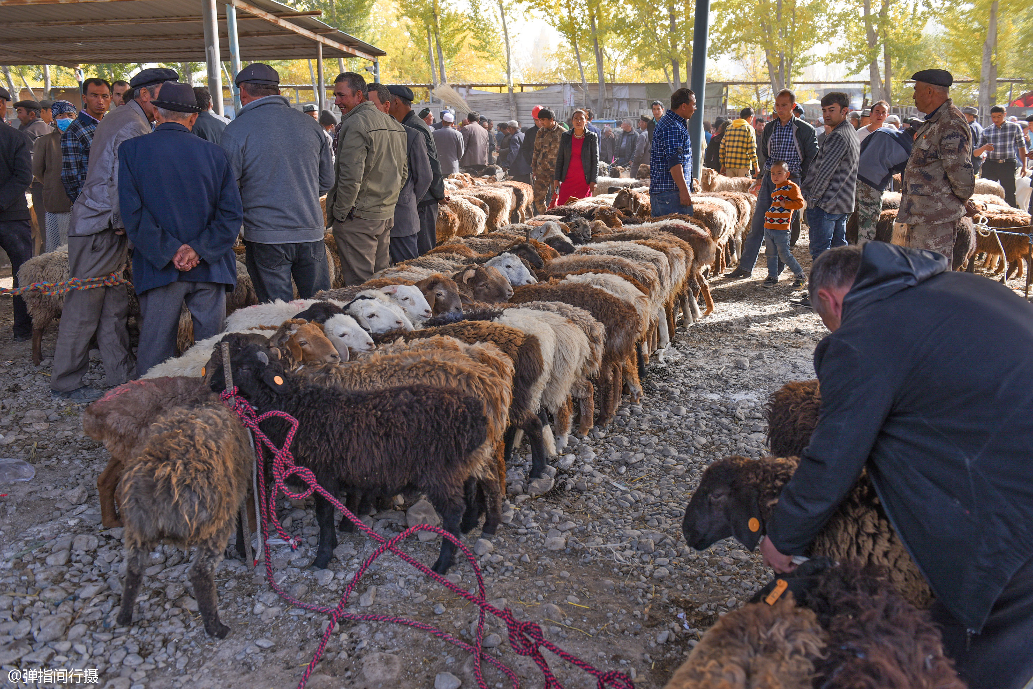
MULTIPOLYGON (((219 44, 229 55, 226 5, 219 44)), ((237 8, 242 62, 316 57, 373 60, 383 51, 275 0, 228 0, 237 8)), ((202 0, 0 0, 0 64, 74 66, 109 62, 205 62, 202 0)))

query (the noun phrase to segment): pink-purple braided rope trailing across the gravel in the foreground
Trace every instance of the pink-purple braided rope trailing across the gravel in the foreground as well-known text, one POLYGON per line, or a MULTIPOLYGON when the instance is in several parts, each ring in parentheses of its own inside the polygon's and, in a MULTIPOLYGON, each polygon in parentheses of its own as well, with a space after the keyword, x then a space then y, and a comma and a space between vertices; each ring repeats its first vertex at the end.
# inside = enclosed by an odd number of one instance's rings
POLYGON ((331 495, 325 489, 318 484, 315 478, 315 474, 312 473, 306 467, 301 467, 294 464, 293 457, 290 452, 290 444, 293 442, 294 435, 298 432, 299 421, 294 417, 290 416, 283 411, 267 411, 263 414, 256 415, 255 410, 248 404, 245 400, 237 397, 237 387, 227 388, 222 392, 221 399, 234 413, 240 417, 241 422, 247 427, 256 439, 255 449, 257 452, 257 460, 259 463, 264 462, 265 450, 273 456, 272 461, 272 472, 274 476, 274 486, 271 492, 267 492, 265 487, 265 475, 264 471, 259 470, 258 474, 260 479, 258 480, 258 491, 259 495, 256 496, 256 500, 260 504, 261 509, 261 538, 262 543, 267 542, 269 537, 269 525, 272 523, 275 525, 277 535, 282 538, 287 544, 290 545, 291 550, 296 550, 299 546, 299 539, 296 537, 290 536, 283 529, 282 525, 276 519, 276 495, 278 491, 282 491, 283 494, 291 500, 304 500, 310 497, 314 493, 319 493, 320 496, 325 498, 335 508, 340 509, 346 519, 348 519, 352 524, 355 525, 363 533, 368 537, 376 540, 380 545, 373 552, 373 554, 367 558, 358 569, 355 571, 354 576, 352 576, 351 582, 348 583, 341 596, 340 602, 338 602, 335 607, 327 607, 324 605, 315 605, 313 603, 305 603, 295 600, 287 593, 285 593, 274 581, 273 578, 273 562, 270 549, 265 550, 265 577, 269 585, 273 588, 276 593, 284 600, 290 602, 291 604, 301 607, 303 609, 311 610, 314 613, 320 613, 330 617, 330 624, 326 626, 326 631, 323 632, 322 638, 319 640, 319 646, 316 648, 315 654, 312 656, 312 660, 309 662, 308 667, 305 669, 305 674, 302 676, 301 682, 298 685, 298 689, 305 689, 305 685, 315 669, 316 664, 322 657, 323 652, 326 649, 326 644, 330 641, 330 637, 337 626, 338 620, 351 620, 351 621, 368 621, 368 622, 390 622, 394 624, 401 624, 407 627, 412 627, 414 629, 420 629, 422 631, 430 632, 438 638, 444 639, 449 644, 473 654, 474 664, 473 672, 477 680, 477 687, 479 689, 488 689, 488 682, 484 680, 483 671, 481 668, 481 661, 487 660, 498 670, 503 672, 509 681, 512 683, 514 689, 520 686, 520 681, 516 678, 515 672, 513 672, 509 667, 504 665, 501 661, 495 657, 484 653, 483 651, 483 637, 484 637, 484 618, 486 613, 490 613, 495 617, 499 618, 506 624, 506 629, 508 630, 509 645, 512 647, 513 651, 521 656, 530 657, 538 669, 541 671, 545 682, 543 689, 563 689, 563 685, 560 684, 559 680, 553 674, 545 661, 545 658, 541 654, 541 649, 545 649, 550 653, 559 656, 568 663, 581 668, 585 672, 591 675, 596 679, 597 689, 607 689, 611 687, 613 689, 634 689, 634 684, 632 684, 631 679, 623 674, 616 670, 603 671, 590 663, 585 662, 581 658, 571 655, 555 646, 549 641, 541 631, 541 627, 534 622, 520 622, 515 620, 512 616, 512 612, 507 607, 505 609, 498 609, 494 605, 491 605, 486 598, 486 587, 484 578, 480 572, 480 567, 477 565, 477 561, 473 553, 453 534, 448 533, 444 529, 439 527, 431 526, 429 524, 419 524, 413 527, 409 527, 397 536, 386 539, 380 534, 376 533, 370 527, 366 526, 357 516, 352 514, 347 507, 345 507, 336 496, 331 495), (262 433, 259 425, 270 418, 282 418, 290 426, 290 430, 287 431, 286 438, 284 439, 283 446, 277 447, 269 437, 262 433), (286 487, 286 480, 290 476, 296 476, 302 481, 304 481, 307 488, 302 493, 292 493, 286 487), (419 531, 431 531, 440 535, 442 538, 447 538, 452 543, 460 549, 466 556, 473 568, 474 576, 477 580, 477 594, 474 595, 468 591, 461 589, 459 586, 452 584, 447 578, 438 574, 437 572, 431 570, 430 567, 422 564, 421 562, 413 559, 411 556, 406 554, 399 547, 399 543, 406 537, 417 533, 419 531), (474 644, 467 644, 460 638, 457 638, 436 627, 425 624, 422 622, 417 622, 415 620, 409 620, 407 618, 393 617, 385 615, 369 615, 369 614, 357 614, 345 610, 348 598, 354 591, 358 581, 363 577, 363 574, 369 569, 377 558, 387 552, 392 552, 401 558, 403 561, 417 569, 425 576, 429 576, 441 584, 449 591, 455 593, 457 596, 467 599, 471 603, 477 605, 479 608, 477 616, 477 631, 475 634, 474 644))

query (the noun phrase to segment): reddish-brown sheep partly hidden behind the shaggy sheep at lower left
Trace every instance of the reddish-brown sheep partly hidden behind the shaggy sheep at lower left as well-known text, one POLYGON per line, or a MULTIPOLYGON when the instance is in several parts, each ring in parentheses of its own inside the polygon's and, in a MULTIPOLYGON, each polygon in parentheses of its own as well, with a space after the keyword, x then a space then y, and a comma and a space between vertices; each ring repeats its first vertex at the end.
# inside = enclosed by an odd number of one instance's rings
MULTIPOLYGON (((261 335, 254 337, 264 340, 261 335)), ((198 378, 162 377, 131 380, 113 387, 83 411, 83 432, 102 442, 112 456, 97 477, 100 523, 105 529, 122 526, 117 516, 115 487, 125 463, 143 450, 158 415, 165 409, 216 399, 198 378)))

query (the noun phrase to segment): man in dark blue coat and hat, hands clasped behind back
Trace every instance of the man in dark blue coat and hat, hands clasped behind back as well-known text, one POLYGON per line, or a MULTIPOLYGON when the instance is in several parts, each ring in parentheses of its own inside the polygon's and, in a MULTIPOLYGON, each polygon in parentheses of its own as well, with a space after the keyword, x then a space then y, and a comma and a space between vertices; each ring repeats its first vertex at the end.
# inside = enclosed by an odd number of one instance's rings
POLYGON ((138 375, 176 355, 184 302, 195 340, 222 332, 244 221, 225 152, 190 133, 200 112, 190 85, 165 82, 153 102, 157 128, 119 148, 119 206, 144 318, 138 375))

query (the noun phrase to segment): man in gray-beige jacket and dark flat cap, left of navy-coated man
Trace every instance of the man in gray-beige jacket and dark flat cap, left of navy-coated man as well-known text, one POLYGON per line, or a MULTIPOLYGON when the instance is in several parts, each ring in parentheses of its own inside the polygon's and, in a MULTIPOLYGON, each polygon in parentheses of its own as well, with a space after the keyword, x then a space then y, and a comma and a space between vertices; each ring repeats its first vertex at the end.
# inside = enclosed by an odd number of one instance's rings
MULTIPOLYGON (((119 146, 151 133, 152 101, 162 83, 180 77, 173 69, 145 69, 129 82, 125 105, 116 107, 97 124, 90 147, 83 190, 71 207, 68 229, 68 274, 100 278, 121 271, 126 262, 125 225, 119 213, 119 146), (131 95, 130 95, 131 94, 131 95)), ((87 404, 102 393, 84 384, 90 370, 90 340, 97 337, 107 386, 132 377, 135 362, 129 348, 129 294, 126 285, 72 290, 65 295, 61 326, 54 352, 51 397, 87 404)), ((142 347, 148 343, 142 342, 142 347)))

